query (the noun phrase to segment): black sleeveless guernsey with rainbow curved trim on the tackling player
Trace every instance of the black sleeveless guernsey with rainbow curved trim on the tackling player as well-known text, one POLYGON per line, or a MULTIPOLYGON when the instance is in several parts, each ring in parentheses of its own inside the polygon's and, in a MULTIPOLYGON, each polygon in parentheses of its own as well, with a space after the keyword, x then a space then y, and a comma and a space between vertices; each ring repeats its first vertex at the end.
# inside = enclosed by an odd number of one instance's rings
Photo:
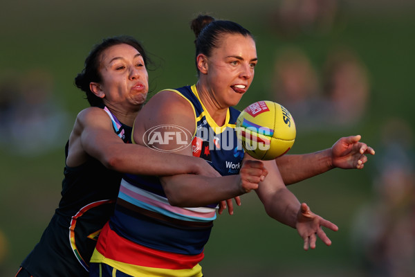
MULTIPOLYGON (((132 128, 120 123, 107 107, 104 110, 114 132, 131 143, 132 128)), ((113 214, 121 177, 93 158, 75 168, 65 166, 59 207, 21 267, 35 277, 89 276, 89 260, 102 226, 113 214)))

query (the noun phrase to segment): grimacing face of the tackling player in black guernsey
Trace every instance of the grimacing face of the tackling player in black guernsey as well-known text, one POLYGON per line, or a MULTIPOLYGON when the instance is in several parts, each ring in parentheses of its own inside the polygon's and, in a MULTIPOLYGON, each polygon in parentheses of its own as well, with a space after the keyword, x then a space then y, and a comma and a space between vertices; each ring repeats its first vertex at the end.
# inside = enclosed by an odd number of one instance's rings
POLYGON ((148 74, 141 54, 128 44, 107 48, 101 55, 100 87, 105 105, 142 105, 148 92, 148 74))

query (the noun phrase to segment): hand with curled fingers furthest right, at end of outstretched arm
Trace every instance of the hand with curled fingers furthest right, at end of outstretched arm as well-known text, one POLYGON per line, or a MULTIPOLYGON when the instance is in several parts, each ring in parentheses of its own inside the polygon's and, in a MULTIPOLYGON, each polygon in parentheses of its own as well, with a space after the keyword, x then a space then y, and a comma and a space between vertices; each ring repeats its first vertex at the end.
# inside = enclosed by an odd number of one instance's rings
POLYGON ((331 147, 331 162, 334 168, 362 169, 367 162, 366 154, 375 154, 375 150, 360 142, 362 136, 347 136, 336 141, 331 147))

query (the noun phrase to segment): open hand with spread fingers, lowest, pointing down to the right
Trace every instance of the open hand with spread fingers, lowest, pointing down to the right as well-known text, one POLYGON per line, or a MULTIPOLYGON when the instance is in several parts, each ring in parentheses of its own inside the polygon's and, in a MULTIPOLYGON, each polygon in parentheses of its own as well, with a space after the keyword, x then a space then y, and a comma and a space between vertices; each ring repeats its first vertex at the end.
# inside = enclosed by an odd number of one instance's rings
POLYGON ((327 237, 326 233, 324 233, 322 226, 333 231, 338 231, 338 226, 329 222, 329 220, 324 220, 320 215, 312 213, 307 204, 302 203, 297 214, 297 224, 295 224, 295 227, 304 240, 304 250, 307 251, 308 247, 315 249, 317 236, 326 245, 331 244, 331 240, 327 237))

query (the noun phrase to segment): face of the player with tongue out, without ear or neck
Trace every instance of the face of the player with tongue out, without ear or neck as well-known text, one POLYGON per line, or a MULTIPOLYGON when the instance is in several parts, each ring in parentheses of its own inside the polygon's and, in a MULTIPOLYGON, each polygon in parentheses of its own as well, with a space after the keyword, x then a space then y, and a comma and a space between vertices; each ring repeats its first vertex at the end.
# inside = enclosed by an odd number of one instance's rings
POLYGON ((208 57, 209 87, 221 107, 237 105, 254 78, 257 48, 252 37, 224 35, 208 57))

